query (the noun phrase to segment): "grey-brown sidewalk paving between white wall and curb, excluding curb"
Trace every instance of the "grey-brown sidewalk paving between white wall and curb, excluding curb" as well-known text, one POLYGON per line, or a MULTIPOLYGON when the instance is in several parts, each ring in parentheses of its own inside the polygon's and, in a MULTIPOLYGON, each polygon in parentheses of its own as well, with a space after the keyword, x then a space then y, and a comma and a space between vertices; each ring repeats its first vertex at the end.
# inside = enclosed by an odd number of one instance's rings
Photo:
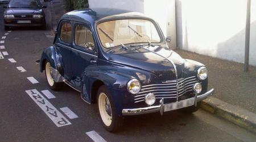
POLYGON ((243 64, 175 50, 184 59, 199 61, 209 72, 208 89, 214 88, 213 97, 240 106, 256 114, 256 67, 243 72, 243 64))

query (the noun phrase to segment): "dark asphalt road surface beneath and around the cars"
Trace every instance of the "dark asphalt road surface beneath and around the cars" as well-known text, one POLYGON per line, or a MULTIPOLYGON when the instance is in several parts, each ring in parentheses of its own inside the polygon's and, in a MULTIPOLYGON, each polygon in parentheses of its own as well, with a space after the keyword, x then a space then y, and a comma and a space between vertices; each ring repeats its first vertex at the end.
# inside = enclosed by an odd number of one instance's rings
MULTIPOLYGON (((46 5, 49 6, 49 2, 46 5)), ((96 105, 82 101, 80 94, 68 86, 58 92, 49 90, 44 73, 39 72, 35 60, 40 59, 43 49, 53 40, 49 11, 46 9, 47 30, 28 27, 8 32, 3 29, 3 8, 0 6, 0 38, 6 36, 0 39, 5 41, 0 44, 5 46, 0 49, 5 53, 4 59, 0 59, 0 141, 256 141, 252 133, 203 110, 191 115, 173 111, 163 116, 134 116, 125 119, 122 131, 105 131, 96 105), (20 72, 18 66, 26 72, 20 72), (31 83, 27 77, 34 77, 38 83, 31 83), (57 127, 56 120, 50 119, 48 111, 43 109, 45 106, 41 105, 41 109, 38 99, 30 97, 31 91, 26 92, 32 89, 70 123, 57 127), (43 94, 42 90, 49 90, 52 95, 43 94), (60 109, 63 107, 75 114, 66 115, 60 109)))

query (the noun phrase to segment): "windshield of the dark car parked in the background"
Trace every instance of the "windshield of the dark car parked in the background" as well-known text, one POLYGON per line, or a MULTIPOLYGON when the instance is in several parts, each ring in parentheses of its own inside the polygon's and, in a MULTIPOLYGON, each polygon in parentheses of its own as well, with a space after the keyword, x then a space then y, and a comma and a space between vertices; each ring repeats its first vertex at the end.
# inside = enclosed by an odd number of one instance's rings
POLYGON ((9 3, 10 8, 39 8, 38 0, 11 0, 9 3))

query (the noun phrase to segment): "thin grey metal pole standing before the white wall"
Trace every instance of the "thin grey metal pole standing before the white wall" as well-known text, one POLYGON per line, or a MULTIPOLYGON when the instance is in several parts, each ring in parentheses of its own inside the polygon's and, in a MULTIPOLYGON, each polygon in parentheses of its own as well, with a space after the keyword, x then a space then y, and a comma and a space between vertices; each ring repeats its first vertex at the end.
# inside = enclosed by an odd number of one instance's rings
POLYGON ((249 70, 251 0, 247 0, 246 26, 245 26, 245 72, 249 70))

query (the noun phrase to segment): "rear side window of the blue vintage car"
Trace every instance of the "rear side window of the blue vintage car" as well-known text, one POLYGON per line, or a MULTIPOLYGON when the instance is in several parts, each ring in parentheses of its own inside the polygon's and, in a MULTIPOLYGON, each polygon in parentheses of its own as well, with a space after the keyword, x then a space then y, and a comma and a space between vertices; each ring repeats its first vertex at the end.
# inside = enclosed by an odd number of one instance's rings
POLYGON ((60 30, 60 40, 65 43, 71 43, 72 41, 72 24, 70 22, 63 22, 60 30))

